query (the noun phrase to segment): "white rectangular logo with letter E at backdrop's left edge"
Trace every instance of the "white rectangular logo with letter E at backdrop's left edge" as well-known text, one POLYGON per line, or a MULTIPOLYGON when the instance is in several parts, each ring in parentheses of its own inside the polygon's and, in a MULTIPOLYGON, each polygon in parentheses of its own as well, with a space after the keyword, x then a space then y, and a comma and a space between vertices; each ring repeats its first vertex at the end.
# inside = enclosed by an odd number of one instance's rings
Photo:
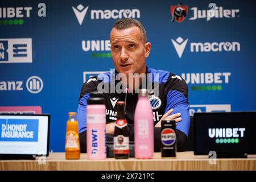
POLYGON ((0 39, 0 63, 32 63, 32 39, 0 39))

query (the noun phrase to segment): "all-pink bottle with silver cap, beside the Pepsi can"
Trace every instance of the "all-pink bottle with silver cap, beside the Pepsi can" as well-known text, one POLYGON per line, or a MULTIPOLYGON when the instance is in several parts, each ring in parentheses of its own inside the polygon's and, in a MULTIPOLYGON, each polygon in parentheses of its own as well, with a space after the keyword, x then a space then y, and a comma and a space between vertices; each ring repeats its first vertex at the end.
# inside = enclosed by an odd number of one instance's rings
POLYGON ((154 121, 147 89, 139 90, 134 115, 135 158, 152 159, 154 155, 154 121))

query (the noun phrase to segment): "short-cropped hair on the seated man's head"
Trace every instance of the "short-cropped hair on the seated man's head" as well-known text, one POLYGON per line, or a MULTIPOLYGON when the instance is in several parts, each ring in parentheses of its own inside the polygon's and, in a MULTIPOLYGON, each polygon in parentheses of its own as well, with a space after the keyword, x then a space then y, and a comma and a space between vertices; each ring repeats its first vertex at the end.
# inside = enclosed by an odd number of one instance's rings
POLYGON ((146 30, 143 27, 142 23, 139 22, 137 19, 133 19, 133 18, 119 19, 115 22, 113 26, 113 28, 116 28, 117 30, 124 30, 131 27, 138 27, 139 30, 141 30, 142 36, 143 36, 142 41, 146 43, 147 42, 146 30))

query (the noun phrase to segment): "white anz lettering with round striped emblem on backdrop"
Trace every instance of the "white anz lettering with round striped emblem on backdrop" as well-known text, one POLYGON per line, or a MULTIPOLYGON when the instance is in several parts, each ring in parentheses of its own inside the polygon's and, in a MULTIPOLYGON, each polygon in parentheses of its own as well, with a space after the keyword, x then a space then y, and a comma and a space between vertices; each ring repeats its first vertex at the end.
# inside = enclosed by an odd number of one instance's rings
MULTIPOLYGON (((27 79, 26 87, 30 93, 39 93, 43 89, 43 80, 38 76, 27 79)), ((0 81, 0 91, 22 91, 23 81, 0 81)))

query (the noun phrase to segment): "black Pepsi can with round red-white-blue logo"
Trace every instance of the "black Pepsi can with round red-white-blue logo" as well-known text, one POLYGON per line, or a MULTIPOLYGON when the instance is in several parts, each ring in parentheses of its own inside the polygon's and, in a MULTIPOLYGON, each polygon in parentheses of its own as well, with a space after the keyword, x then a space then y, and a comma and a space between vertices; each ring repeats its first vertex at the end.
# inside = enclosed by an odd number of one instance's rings
POLYGON ((163 119, 161 122, 161 153, 162 158, 176 157, 176 122, 163 119))

